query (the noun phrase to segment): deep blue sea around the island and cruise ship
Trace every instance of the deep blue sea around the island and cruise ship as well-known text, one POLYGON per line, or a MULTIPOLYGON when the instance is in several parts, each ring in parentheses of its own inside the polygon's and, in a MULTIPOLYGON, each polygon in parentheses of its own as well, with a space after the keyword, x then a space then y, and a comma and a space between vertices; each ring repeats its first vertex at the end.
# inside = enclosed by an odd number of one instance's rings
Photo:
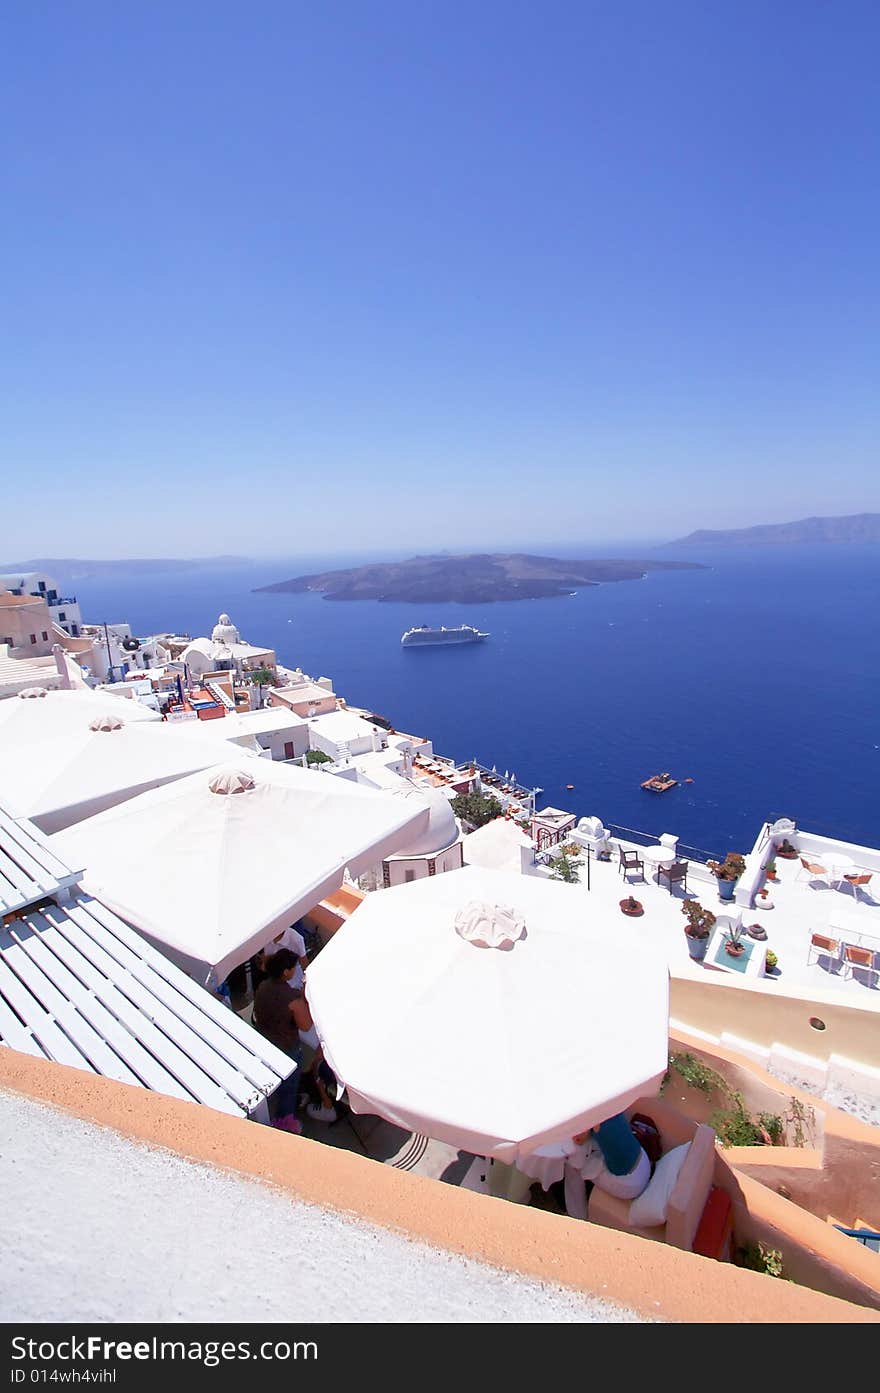
POLYGON ((880 844, 880 547, 666 554, 709 568, 482 606, 252 593, 356 557, 79 577, 74 588, 86 621, 138 634, 210 634, 227 612, 245 641, 331 677, 349 703, 429 736, 439 754, 539 786, 540 807, 674 832, 710 853, 746 851, 777 816, 880 844), (492 637, 401 648, 422 623, 492 637), (639 787, 667 769, 693 783, 639 787))

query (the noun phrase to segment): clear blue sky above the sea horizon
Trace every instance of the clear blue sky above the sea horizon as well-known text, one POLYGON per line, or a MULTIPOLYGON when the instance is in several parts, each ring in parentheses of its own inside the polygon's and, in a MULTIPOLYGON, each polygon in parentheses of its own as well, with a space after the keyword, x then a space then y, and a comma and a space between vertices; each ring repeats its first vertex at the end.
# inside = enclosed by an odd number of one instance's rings
POLYGON ((880 510, 879 47, 874 0, 7 7, 6 559, 880 510))

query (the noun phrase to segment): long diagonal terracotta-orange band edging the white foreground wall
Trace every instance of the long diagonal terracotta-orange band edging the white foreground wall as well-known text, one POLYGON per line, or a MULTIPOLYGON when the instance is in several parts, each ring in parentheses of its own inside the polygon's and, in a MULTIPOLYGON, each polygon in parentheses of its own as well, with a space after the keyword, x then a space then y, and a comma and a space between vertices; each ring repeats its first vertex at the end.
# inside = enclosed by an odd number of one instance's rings
MULTIPOLYGON (((629 1234, 476 1195, 11 1049, 0 1050, 0 1088, 42 1099, 202 1165, 224 1166, 272 1183, 312 1204, 361 1216, 434 1248, 599 1294, 646 1319, 880 1323, 874 1311, 802 1286, 661 1244, 647 1247, 629 1234)), ((88 1275, 88 1255, 79 1270, 88 1275)))

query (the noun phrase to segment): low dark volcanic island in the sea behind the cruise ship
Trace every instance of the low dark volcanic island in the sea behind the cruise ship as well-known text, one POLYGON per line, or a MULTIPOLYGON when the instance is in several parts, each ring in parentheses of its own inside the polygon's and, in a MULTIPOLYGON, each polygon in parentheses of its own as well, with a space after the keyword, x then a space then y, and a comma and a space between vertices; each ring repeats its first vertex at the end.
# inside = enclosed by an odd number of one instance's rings
POLYGON ((408 561, 355 566, 340 571, 295 575, 255 593, 290 595, 319 591, 329 600, 398 600, 404 603, 487 605, 560 595, 602 581, 642 579, 647 571, 702 570, 693 561, 567 561, 525 553, 412 556, 408 561))

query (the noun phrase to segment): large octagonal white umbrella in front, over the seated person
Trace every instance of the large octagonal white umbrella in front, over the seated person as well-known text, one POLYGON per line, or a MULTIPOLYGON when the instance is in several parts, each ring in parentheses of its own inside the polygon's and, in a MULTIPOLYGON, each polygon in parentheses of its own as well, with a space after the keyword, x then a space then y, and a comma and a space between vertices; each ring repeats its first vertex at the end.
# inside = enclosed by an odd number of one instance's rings
POLYGON ((656 936, 535 876, 468 866, 368 896, 306 993, 355 1112, 504 1162, 656 1092, 667 1067, 656 936))

